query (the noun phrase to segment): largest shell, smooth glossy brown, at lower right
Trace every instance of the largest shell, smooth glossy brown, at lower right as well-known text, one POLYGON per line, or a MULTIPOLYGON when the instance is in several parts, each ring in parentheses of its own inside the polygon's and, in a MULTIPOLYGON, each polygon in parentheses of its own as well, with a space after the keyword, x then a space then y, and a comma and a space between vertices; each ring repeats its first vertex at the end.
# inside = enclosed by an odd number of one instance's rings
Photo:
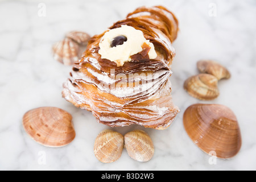
POLYGON ((241 148, 241 133, 236 115, 228 107, 216 104, 189 106, 183 115, 188 136, 204 152, 216 152, 218 158, 232 158, 241 148))

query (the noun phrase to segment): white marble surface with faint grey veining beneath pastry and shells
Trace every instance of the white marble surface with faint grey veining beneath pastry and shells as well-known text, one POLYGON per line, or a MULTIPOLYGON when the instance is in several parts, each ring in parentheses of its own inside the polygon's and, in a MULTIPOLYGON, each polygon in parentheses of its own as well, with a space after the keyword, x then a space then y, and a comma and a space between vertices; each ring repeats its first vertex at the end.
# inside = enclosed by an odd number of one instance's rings
POLYGON ((255 1, 1 1, 0 2, 0 169, 2 170, 255 170, 256 169, 256 3, 255 1), (46 5, 42 15, 39 3, 46 5), (140 126, 114 128, 125 134, 143 129, 155 145, 147 163, 131 159, 124 150, 111 164, 93 154, 97 134, 109 127, 97 123, 89 111, 77 109, 61 97, 62 84, 71 67, 53 60, 51 46, 67 31, 99 34, 142 5, 163 5, 180 22, 174 43, 172 94, 181 112, 164 131, 140 126), (212 11, 216 6, 216 11, 212 11), (209 14, 210 13, 210 14, 209 14), (214 14, 216 13, 216 14, 214 14), (216 15, 216 16, 213 16, 216 15), (232 73, 220 81, 220 96, 199 101, 183 89, 197 74, 196 61, 220 61, 232 73), (183 128, 184 110, 196 103, 223 104, 236 113, 242 148, 232 159, 209 164, 183 128), (22 127, 23 114, 40 106, 57 106, 73 115, 76 138, 61 148, 34 142, 22 127), (43 157, 45 156, 45 160, 43 157))

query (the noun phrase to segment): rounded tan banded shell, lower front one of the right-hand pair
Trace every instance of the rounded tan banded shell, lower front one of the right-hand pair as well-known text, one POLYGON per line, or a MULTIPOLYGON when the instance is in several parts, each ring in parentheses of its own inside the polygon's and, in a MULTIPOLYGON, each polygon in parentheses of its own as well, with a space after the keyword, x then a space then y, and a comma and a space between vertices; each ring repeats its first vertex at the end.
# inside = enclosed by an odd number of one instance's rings
POLYGON ((184 82, 184 89, 192 97, 200 100, 213 100, 220 94, 218 91, 218 79, 205 73, 189 77, 184 82))

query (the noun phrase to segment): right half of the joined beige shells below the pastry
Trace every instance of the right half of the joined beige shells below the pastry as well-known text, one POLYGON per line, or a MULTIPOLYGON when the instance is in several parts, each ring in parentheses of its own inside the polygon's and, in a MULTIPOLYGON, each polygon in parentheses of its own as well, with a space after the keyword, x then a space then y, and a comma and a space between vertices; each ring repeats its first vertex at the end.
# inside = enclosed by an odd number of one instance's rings
POLYGON ((145 131, 134 130, 125 134, 128 155, 139 162, 147 162, 154 155, 153 142, 145 131))

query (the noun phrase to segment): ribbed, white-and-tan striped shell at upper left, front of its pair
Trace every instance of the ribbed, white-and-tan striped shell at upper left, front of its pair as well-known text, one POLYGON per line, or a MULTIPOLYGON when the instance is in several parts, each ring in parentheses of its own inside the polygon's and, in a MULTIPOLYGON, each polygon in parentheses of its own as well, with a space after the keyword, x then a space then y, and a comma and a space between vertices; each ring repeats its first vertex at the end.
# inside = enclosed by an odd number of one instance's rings
POLYGON ((72 65, 79 60, 79 45, 69 38, 53 44, 53 58, 64 65, 72 65))

